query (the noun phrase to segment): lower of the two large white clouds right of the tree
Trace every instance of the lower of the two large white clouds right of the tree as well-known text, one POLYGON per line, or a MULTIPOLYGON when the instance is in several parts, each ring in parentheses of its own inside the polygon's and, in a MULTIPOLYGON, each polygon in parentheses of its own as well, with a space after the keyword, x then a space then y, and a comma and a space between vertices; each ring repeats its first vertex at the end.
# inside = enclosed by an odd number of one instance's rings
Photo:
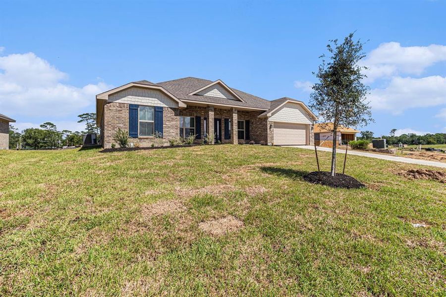
POLYGON ((400 114, 408 108, 446 104, 446 77, 394 77, 384 89, 373 89, 370 99, 375 109, 400 114))

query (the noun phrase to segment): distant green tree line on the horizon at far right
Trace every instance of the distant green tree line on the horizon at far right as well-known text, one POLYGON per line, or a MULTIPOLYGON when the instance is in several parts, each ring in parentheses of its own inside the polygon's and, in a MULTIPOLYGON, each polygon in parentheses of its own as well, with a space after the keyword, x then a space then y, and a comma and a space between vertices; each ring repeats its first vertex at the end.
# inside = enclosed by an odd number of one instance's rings
MULTIPOLYGON (((381 136, 382 139, 386 140, 388 145, 397 145, 402 143, 403 145, 444 145, 446 144, 446 133, 436 133, 436 134, 425 134, 416 135, 413 133, 402 134, 400 136, 395 136, 396 129, 390 130, 389 135, 381 136)), ((361 136, 358 140, 368 140, 376 139, 378 137, 373 137, 372 131, 362 131, 361 136)))

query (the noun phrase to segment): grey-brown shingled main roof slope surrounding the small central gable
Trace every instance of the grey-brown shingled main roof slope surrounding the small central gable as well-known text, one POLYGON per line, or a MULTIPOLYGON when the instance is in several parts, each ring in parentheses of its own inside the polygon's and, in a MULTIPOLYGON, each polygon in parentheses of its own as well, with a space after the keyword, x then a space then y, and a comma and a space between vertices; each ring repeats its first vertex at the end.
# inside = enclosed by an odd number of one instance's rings
POLYGON ((196 77, 185 77, 166 82, 157 83, 158 86, 165 88, 168 92, 172 93, 176 98, 180 100, 191 100, 204 103, 215 103, 223 105, 235 105, 240 107, 251 107, 258 109, 269 109, 271 101, 230 88, 235 94, 237 94, 243 101, 217 97, 209 97, 202 95, 189 95, 190 93, 203 88, 206 85, 211 84, 213 81, 207 79, 201 79, 196 77))

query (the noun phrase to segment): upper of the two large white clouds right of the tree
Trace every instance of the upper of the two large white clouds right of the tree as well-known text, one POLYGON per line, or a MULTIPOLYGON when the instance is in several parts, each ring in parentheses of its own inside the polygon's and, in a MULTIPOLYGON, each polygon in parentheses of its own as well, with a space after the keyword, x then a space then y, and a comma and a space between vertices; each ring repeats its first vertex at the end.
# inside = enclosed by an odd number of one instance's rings
POLYGON ((420 75, 427 67, 441 61, 446 61, 446 46, 401 47, 397 42, 389 42, 372 50, 361 64, 369 67, 365 71, 368 76, 365 81, 373 82, 403 73, 420 75))

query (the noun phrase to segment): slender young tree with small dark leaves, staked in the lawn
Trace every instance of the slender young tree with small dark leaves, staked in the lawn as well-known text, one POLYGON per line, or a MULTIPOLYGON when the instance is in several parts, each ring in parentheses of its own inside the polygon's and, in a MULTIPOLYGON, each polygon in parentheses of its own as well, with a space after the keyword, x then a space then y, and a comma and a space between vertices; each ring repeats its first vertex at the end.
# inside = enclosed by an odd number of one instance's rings
MULTIPOLYGON (((363 44, 353 41, 350 33, 339 44, 337 39, 331 40, 327 49, 331 56, 326 62, 322 55, 322 64, 317 73, 319 83, 313 86, 310 95, 310 107, 316 110, 325 122, 333 122, 332 176, 336 171, 336 130, 341 126, 365 126, 373 121, 366 95, 369 87, 362 83, 366 76, 361 73, 366 67, 358 65, 365 57, 363 44)), ((324 126, 324 123, 321 124, 324 126)))

